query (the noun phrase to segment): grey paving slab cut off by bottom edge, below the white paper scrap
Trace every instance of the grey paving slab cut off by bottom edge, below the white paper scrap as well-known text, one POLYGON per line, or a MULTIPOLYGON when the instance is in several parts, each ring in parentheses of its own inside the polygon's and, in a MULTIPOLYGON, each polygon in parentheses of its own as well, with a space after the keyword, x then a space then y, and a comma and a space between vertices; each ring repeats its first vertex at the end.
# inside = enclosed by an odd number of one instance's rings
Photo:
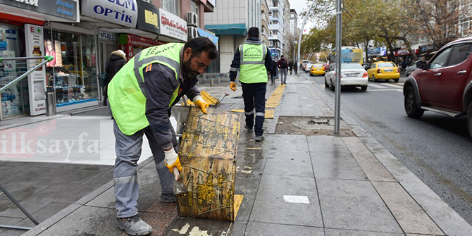
POLYGON ((306 235, 306 236, 324 236, 323 228, 299 226, 299 225, 282 225, 271 223, 249 222, 247 224, 246 236, 253 235, 278 235, 278 236, 292 236, 292 235, 306 235))

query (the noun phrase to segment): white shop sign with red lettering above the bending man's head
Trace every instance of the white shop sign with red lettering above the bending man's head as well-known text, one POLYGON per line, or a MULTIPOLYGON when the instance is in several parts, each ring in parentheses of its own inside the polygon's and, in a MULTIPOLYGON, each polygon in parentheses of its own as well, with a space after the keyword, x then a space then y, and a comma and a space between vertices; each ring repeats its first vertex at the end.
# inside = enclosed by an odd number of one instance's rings
POLYGON ((159 9, 161 13, 161 35, 187 41, 187 21, 168 11, 159 9))

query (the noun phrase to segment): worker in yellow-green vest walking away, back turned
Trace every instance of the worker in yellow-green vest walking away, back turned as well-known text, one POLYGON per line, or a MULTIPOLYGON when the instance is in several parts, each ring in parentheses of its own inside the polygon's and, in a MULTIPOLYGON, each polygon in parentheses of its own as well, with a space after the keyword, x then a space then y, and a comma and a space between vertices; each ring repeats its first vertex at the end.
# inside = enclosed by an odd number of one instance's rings
POLYGON ((230 69, 230 88, 236 91, 235 79, 240 70, 244 114, 246 114, 247 132, 256 131, 256 142, 264 139, 262 125, 266 109, 266 85, 268 72, 272 69, 271 51, 259 39, 259 29, 249 28, 247 39, 236 50, 230 69), (256 125, 254 125, 254 107, 256 108, 256 125))

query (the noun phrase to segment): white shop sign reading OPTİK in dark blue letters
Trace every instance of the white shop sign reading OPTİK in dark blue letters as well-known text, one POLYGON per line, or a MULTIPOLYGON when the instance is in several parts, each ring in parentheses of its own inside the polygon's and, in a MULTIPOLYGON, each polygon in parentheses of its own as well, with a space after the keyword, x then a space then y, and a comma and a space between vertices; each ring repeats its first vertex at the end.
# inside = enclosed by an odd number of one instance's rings
POLYGON ((117 25, 136 27, 138 11, 136 0, 82 0, 80 8, 82 15, 117 25))

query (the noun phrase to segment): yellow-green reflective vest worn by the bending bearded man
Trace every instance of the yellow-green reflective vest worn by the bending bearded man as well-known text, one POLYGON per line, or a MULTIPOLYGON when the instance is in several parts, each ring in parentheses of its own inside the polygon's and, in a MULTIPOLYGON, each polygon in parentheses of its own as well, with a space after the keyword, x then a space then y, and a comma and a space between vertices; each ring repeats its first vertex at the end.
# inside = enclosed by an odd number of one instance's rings
MULTIPOLYGON (((143 70, 151 63, 160 63, 175 73, 175 80, 180 75, 180 51, 184 44, 163 44, 151 46, 140 51, 116 73, 108 84, 108 100, 118 128, 125 135, 146 128, 149 122, 146 117, 146 100, 151 96, 163 94, 147 94, 144 89, 143 70)), ((180 84, 180 83, 178 83, 180 84)), ((169 107, 178 97, 179 86, 170 97, 169 107)))

